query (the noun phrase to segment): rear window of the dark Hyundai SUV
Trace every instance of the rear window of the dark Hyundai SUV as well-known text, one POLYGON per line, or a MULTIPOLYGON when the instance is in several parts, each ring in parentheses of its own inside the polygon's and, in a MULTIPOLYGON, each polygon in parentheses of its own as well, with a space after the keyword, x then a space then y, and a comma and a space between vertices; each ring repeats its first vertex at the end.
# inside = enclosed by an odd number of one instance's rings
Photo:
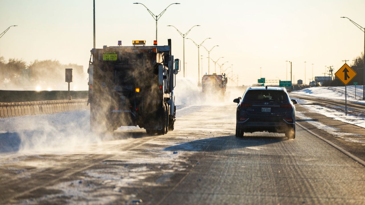
POLYGON ((287 93, 283 90, 249 90, 245 101, 288 101, 287 93))

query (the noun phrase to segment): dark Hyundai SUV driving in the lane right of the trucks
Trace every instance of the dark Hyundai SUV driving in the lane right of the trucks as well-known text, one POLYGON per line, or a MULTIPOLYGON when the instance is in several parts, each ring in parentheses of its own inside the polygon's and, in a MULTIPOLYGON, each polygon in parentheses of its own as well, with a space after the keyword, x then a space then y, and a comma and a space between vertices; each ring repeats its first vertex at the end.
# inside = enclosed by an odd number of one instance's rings
POLYGON ((295 106, 287 91, 278 87, 248 88, 233 100, 238 103, 236 114, 236 137, 243 132, 285 133, 289 139, 295 138, 295 106))

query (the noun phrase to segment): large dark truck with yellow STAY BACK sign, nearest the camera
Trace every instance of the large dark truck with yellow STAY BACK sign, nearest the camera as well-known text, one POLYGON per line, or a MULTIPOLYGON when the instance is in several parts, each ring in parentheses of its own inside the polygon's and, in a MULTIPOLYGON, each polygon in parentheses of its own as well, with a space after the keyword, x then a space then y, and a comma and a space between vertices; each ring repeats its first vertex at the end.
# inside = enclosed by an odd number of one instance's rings
POLYGON ((89 73, 90 126, 112 132, 139 126, 147 134, 174 129, 173 89, 179 60, 168 46, 104 46, 92 49, 89 73), (175 63, 175 67, 174 67, 175 63))

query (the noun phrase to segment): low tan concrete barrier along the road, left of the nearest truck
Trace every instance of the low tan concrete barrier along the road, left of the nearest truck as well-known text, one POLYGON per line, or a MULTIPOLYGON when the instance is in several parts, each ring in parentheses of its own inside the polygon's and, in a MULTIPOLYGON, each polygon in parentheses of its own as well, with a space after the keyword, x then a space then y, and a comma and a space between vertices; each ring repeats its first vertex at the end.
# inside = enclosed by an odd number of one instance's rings
POLYGON ((42 115, 90 109, 90 106, 86 105, 87 101, 88 99, 32 102, 0 102, 0 117, 42 115))

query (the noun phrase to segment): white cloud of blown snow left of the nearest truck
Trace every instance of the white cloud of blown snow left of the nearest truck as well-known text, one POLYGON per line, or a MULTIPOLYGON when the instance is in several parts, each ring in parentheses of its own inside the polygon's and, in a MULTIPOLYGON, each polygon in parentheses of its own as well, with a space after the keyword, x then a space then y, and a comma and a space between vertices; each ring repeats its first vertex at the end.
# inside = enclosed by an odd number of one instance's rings
POLYGON ((22 116, 0 119, 5 124, 0 130, 1 138, 11 147, 0 151, 28 153, 73 152, 101 139, 89 132, 89 111, 64 112, 50 115, 22 116), (5 151, 4 151, 5 150, 5 151))

